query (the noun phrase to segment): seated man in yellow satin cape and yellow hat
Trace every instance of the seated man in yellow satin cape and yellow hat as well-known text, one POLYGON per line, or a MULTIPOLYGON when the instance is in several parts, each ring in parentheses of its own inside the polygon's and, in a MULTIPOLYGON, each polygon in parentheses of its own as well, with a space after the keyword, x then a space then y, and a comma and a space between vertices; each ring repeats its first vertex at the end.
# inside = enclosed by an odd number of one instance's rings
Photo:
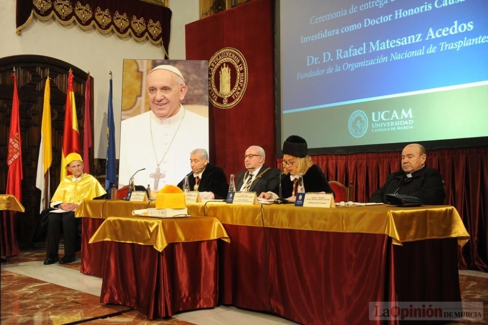
POLYGON ((47 230, 45 265, 58 261, 60 264, 67 264, 76 260, 75 252, 81 243, 79 233, 81 218, 75 218, 75 210, 82 201, 106 194, 95 177, 83 173, 83 160, 79 154, 70 153, 66 156, 65 163, 71 175, 66 176, 56 189, 50 203, 51 209, 41 213, 39 230, 41 237, 47 230), (54 209, 61 209, 64 212, 50 212, 54 209), (60 260, 58 248, 61 229, 64 234, 64 257, 60 260))

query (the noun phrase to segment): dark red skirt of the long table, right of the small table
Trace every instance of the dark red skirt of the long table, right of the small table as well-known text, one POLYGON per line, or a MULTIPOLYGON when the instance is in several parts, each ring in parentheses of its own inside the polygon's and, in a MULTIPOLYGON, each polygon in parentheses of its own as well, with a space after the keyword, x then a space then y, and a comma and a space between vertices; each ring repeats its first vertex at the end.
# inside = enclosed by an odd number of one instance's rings
POLYGON ((303 324, 369 324, 374 301, 460 301, 457 239, 225 224, 219 302, 303 324))

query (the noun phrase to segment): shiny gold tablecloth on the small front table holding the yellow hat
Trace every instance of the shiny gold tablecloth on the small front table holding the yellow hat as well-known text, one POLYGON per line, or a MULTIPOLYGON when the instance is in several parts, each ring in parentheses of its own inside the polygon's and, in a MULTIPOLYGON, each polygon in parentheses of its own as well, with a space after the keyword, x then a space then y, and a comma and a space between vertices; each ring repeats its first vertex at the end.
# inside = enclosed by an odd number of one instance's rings
POLYGON ((152 245, 163 251, 169 243, 222 239, 230 242, 222 223, 213 217, 108 217, 89 243, 113 241, 152 245))

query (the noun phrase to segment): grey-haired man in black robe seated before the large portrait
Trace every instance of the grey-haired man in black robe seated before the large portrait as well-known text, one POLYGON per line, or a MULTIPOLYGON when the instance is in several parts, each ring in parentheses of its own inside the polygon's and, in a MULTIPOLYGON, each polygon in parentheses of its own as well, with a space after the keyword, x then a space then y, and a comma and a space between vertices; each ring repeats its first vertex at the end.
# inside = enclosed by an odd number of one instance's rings
MULTIPOLYGON (((208 163, 208 154, 205 149, 195 149, 190 153, 191 173, 188 175, 188 184, 191 191, 200 192, 200 197, 206 200, 221 200, 227 197, 229 185, 222 168, 208 163)), ((184 178, 178 183, 183 189, 184 178)))

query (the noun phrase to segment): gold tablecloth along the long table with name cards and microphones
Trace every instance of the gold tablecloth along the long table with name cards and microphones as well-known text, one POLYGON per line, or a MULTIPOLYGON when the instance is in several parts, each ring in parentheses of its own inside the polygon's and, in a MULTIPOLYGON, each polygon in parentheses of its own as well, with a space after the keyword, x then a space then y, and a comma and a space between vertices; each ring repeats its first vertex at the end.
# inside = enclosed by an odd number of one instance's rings
MULTIPOLYGON (((130 215, 149 203, 102 201, 83 202, 76 210, 79 217, 106 218, 130 215)), ((154 206, 154 203, 150 203, 154 206)), ((395 207, 390 205, 337 208, 296 207, 283 205, 237 205, 224 202, 187 203, 193 216, 212 216, 224 224, 266 226, 298 230, 386 234, 393 244, 436 238, 458 238, 458 244, 469 240, 461 217, 453 206, 423 205, 395 207)))

